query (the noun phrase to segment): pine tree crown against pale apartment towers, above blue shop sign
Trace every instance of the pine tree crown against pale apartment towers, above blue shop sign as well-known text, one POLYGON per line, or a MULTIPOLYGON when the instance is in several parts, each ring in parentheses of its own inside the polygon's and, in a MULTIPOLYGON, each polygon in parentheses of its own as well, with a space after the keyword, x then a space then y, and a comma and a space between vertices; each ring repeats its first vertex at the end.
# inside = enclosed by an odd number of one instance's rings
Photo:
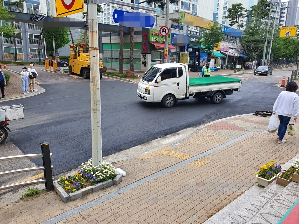
POLYGON ((244 19, 246 16, 246 8, 242 6, 242 3, 232 4, 231 8, 228 8, 228 15, 225 16, 231 22, 229 25, 234 26, 236 24, 237 29, 244 27, 244 19))

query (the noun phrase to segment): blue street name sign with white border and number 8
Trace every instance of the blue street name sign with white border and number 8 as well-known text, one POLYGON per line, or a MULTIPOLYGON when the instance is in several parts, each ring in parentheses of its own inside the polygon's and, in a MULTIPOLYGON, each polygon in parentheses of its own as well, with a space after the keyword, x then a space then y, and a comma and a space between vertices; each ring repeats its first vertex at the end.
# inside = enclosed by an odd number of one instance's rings
POLYGON ((111 15, 114 23, 126 27, 147 27, 154 28, 156 19, 154 16, 142 12, 130 12, 125 10, 114 9, 111 15))

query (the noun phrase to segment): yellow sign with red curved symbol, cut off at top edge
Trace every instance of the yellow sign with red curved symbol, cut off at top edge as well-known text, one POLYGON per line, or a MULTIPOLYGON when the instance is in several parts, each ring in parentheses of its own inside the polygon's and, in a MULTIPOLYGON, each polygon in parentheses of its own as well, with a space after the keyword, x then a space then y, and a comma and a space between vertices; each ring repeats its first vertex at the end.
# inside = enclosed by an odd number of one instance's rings
POLYGON ((84 11, 84 0, 55 0, 56 16, 68 16, 84 11))

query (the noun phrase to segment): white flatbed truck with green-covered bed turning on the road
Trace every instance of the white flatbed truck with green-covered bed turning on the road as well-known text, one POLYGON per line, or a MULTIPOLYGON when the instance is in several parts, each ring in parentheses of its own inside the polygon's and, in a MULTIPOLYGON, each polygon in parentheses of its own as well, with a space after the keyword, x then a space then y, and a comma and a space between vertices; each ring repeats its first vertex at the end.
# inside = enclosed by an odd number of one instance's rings
POLYGON ((137 96, 145 102, 161 102, 170 108, 178 100, 210 98, 213 103, 222 102, 226 95, 240 91, 242 82, 225 76, 189 78, 188 67, 181 63, 165 63, 152 66, 138 83, 137 96))

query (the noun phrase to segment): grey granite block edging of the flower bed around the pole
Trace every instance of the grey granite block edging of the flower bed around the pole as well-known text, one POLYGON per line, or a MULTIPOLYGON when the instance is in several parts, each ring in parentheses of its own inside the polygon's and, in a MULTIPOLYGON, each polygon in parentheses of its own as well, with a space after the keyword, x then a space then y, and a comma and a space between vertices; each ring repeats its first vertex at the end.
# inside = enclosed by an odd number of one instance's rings
POLYGON ((70 201, 74 201, 80 197, 83 197, 87 194, 91 194, 93 192, 99 191, 104 188, 108 188, 112 185, 118 185, 122 179, 122 176, 120 174, 117 174, 116 177, 112 179, 105 180, 103 182, 97 183, 95 185, 91 185, 89 187, 80 189, 79 191, 75 191, 74 193, 66 193, 66 191, 63 189, 63 187, 58 183, 59 180, 56 180, 53 182, 54 185, 54 191, 61 197, 62 201, 67 203, 70 201))

